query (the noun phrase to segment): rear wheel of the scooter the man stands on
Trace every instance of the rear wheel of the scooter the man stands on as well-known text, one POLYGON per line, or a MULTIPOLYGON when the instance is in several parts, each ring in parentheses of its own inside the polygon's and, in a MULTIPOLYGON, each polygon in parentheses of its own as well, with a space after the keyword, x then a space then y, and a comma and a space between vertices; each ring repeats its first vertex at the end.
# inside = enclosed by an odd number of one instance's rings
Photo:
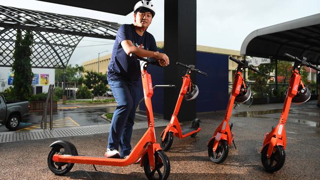
POLYGON ((52 158, 55 154, 64 154, 64 147, 58 145, 50 150, 48 155, 49 169, 55 175, 64 175, 72 169, 74 163, 54 162, 52 158))

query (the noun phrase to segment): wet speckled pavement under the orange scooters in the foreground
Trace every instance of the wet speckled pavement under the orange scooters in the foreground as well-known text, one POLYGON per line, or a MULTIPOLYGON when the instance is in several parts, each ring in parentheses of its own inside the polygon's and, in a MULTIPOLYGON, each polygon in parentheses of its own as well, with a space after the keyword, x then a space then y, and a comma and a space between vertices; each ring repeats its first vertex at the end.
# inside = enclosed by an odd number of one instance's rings
MULTIPOLYGON (((241 113, 243 111, 269 111, 282 109, 283 104, 242 105, 234 110, 240 117, 232 117, 235 144, 229 147, 227 159, 220 165, 212 163, 207 154, 206 143, 221 123, 224 112, 198 114, 202 130, 193 138, 174 138, 171 150, 166 152, 171 163, 170 180, 211 179, 320 179, 320 108, 316 101, 291 106, 286 124, 286 162, 276 173, 266 173, 260 158, 263 134, 269 132, 280 118, 280 112, 272 114, 241 113), (248 114, 248 115, 243 115, 248 114), (249 116, 249 117, 248 117, 249 116)), ((186 124, 189 125, 189 124, 186 124)), ((156 128, 159 142, 163 127, 156 128)), ((145 129, 134 130, 135 145, 145 129)), ((102 156, 107 134, 60 138, 72 142, 81 155, 102 156)), ((47 166, 48 146, 58 139, 43 139, 0 144, 0 179, 82 179, 82 180, 145 180, 143 168, 137 164, 126 167, 75 164, 66 175, 55 176, 47 166)))

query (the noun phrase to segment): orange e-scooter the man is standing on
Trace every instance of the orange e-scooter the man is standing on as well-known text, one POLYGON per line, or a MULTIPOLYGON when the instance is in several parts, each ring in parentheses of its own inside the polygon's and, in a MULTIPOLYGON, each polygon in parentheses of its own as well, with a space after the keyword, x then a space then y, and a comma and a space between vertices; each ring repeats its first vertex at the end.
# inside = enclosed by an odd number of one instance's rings
MULTIPOLYGON (((48 155, 49 169, 56 175, 63 175, 71 170, 74 163, 93 164, 105 166, 128 166, 141 158, 140 165, 149 180, 166 180, 170 174, 170 162, 166 154, 156 142, 155 122, 151 104, 153 87, 151 75, 147 72, 149 64, 157 64, 158 60, 151 60, 137 57, 130 54, 130 57, 140 60, 143 92, 148 117, 146 133, 133 148, 127 158, 106 158, 78 155, 75 146, 67 141, 56 141, 50 145, 52 148, 48 155)), ((95 167, 95 166, 94 166, 95 167)))

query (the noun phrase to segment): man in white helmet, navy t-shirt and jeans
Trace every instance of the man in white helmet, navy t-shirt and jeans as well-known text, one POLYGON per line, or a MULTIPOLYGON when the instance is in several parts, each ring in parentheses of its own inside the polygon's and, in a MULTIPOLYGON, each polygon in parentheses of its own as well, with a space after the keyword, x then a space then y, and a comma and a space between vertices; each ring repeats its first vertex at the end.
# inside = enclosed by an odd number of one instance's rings
POLYGON ((110 158, 126 158, 130 154, 133 120, 141 98, 138 87, 140 63, 128 55, 133 53, 139 57, 158 59, 161 66, 169 64, 169 58, 158 52, 153 35, 146 31, 155 16, 153 4, 147 0, 138 1, 133 12, 134 24, 122 25, 118 30, 107 73, 109 86, 118 103, 104 153, 105 157, 110 158))

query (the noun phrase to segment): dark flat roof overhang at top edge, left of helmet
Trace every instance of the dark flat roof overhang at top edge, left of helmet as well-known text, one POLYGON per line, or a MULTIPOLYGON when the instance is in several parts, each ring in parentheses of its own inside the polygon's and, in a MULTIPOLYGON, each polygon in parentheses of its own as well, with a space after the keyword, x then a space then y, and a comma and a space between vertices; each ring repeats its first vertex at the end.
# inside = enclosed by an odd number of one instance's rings
POLYGON ((108 12, 118 15, 128 15, 139 0, 39 0, 56 4, 108 12))

